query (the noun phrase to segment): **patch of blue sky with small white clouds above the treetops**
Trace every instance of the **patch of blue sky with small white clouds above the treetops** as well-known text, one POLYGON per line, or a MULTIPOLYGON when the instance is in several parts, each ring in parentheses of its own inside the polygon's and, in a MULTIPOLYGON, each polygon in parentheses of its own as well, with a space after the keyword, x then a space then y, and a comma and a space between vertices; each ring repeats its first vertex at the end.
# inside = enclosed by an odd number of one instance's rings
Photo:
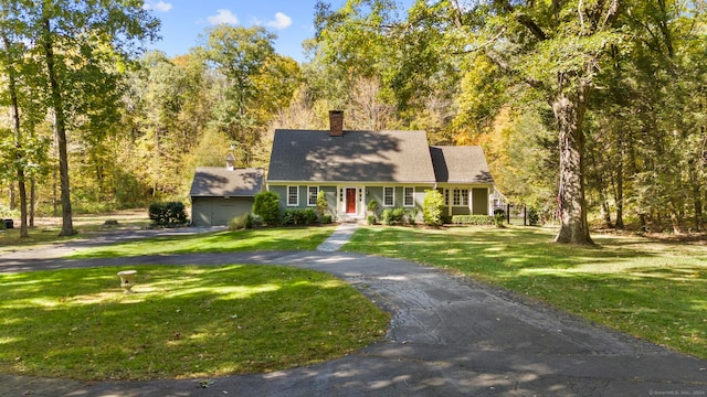
MULTIPOLYGON (((335 9, 345 0, 329 0, 335 9)), ((145 0, 145 8, 162 21, 162 40, 150 45, 168 56, 186 54, 209 26, 230 23, 262 25, 277 34, 275 51, 304 61, 302 42, 314 35, 316 0, 145 0)))

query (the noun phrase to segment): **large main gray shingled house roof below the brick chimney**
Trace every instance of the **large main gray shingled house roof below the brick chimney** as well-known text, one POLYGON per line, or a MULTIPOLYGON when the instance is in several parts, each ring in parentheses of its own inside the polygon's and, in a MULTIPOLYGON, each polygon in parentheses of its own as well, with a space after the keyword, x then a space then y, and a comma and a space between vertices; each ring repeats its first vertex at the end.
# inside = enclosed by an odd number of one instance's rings
POLYGON ((424 131, 276 130, 267 180, 434 183, 424 131))

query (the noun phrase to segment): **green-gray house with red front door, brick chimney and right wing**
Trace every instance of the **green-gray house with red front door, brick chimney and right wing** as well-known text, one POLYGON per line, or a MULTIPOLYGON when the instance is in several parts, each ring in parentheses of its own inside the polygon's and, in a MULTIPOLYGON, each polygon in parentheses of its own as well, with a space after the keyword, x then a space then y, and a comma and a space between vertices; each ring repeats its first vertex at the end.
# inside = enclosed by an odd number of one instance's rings
POLYGON ((275 131, 267 190, 282 210, 314 207, 324 191, 335 219, 361 219, 372 200, 381 210, 421 210, 437 189, 447 216, 493 214, 494 180, 479 147, 430 147, 424 131, 345 131, 341 111, 329 122, 329 130, 275 131))

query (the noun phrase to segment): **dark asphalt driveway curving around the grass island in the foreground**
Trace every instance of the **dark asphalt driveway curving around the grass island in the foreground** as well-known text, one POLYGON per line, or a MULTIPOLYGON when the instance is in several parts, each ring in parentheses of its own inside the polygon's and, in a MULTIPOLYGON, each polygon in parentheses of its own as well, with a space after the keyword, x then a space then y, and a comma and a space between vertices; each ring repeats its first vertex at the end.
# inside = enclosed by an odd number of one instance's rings
POLYGON ((146 264, 277 264, 327 271, 393 314, 387 339, 270 374, 81 383, 0 375, 1 396, 707 396, 707 361, 404 260, 267 251, 67 260, 0 256, 0 272, 146 264))

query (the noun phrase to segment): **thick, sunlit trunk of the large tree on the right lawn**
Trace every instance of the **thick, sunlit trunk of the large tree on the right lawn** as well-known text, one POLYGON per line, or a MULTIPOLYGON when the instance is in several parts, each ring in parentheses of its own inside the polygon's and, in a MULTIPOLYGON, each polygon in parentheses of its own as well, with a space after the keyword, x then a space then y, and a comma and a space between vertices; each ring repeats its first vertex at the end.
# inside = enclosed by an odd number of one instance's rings
POLYGON ((578 82, 578 87, 568 90, 567 85, 571 81, 566 73, 558 75, 560 88, 552 103, 560 138, 560 230, 555 240, 563 244, 592 244, 584 200, 584 135, 581 129, 589 86, 578 82))

